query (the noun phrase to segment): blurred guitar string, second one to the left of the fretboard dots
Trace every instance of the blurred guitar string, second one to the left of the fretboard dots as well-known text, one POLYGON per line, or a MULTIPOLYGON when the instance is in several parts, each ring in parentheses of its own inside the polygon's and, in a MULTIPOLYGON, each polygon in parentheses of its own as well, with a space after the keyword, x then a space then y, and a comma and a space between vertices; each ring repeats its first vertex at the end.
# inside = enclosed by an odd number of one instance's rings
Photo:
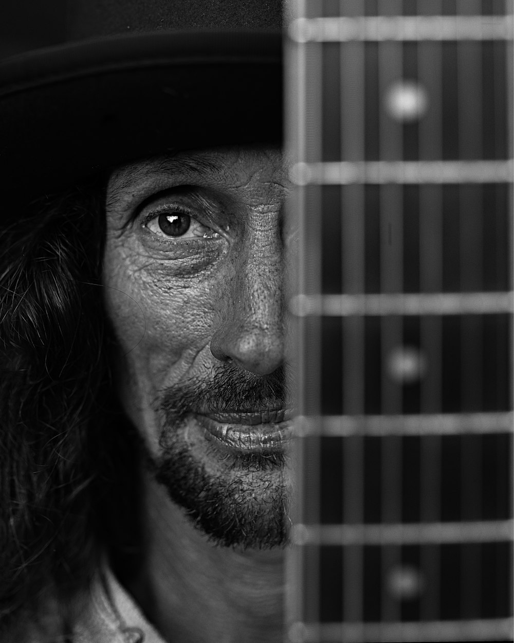
MULTIPOLYGON (((341 0, 341 15, 363 15, 364 0, 341 0)), ((341 159, 364 158, 364 43, 340 47, 341 55, 341 159), (345 91, 345 89, 347 91, 345 91)), ((342 290, 363 293, 365 283, 364 186, 341 188, 342 290)), ((364 413, 364 321, 341 318, 342 403, 346 413, 364 413)), ((364 439, 342 440, 344 523, 364 522, 364 439)), ((342 556, 342 617, 344 622, 364 622, 364 547, 345 547, 342 556)))

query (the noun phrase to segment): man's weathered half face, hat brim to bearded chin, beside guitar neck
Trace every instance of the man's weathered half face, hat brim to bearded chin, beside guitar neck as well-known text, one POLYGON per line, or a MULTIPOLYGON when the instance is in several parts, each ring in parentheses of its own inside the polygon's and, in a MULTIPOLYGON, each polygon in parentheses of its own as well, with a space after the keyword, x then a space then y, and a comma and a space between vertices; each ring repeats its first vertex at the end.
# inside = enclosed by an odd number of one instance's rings
POLYGON ((283 202, 274 149, 134 163, 107 190, 121 403, 150 469, 216 541, 285 541, 283 202))

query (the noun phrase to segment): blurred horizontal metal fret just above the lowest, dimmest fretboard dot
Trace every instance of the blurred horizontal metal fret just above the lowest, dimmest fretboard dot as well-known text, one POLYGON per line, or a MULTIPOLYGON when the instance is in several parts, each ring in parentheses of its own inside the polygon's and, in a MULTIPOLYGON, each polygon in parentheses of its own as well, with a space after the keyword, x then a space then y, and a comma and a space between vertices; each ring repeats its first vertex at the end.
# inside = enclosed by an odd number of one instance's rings
POLYGON ((461 521, 438 523, 363 523, 362 525, 294 525, 292 542, 308 545, 442 545, 450 543, 509 542, 514 521, 461 521))

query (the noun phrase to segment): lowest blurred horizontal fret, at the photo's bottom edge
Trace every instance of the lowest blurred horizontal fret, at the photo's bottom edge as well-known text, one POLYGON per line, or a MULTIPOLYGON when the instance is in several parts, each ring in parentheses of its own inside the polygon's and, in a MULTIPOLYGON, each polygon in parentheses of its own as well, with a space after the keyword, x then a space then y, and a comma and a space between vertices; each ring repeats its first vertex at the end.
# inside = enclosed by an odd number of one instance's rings
POLYGON ((514 619, 432 620, 396 623, 295 623, 291 643, 398 643, 398 641, 512 640, 514 619))

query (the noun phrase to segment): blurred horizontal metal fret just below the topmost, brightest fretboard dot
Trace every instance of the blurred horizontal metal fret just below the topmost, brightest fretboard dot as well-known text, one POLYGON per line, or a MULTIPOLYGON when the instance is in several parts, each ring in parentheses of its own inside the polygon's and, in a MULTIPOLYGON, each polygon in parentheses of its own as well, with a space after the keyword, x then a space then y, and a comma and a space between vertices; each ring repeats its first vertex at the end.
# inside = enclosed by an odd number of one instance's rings
POLYGON ((296 185, 352 183, 511 183, 511 159, 495 161, 332 161, 295 163, 290 179, 296 185))

